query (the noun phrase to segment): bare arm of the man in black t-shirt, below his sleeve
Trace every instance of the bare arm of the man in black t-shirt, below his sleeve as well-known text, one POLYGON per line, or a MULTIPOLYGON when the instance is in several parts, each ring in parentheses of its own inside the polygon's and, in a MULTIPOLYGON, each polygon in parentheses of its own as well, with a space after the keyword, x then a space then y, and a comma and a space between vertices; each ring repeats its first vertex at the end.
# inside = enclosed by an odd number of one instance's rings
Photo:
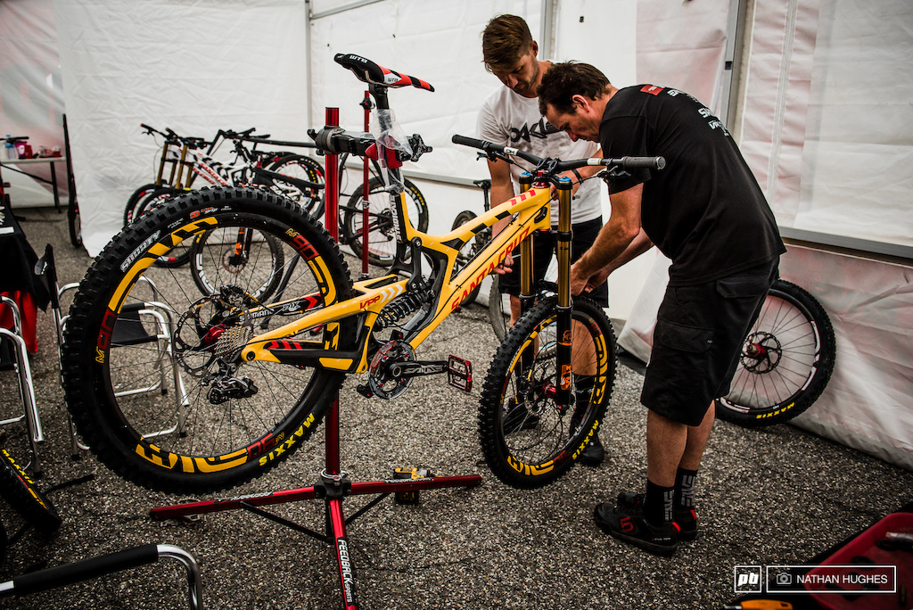
POLYGON ((643 254, 653 244, 640 225, 644 184, 609 196, 612 212, 590 247, 571 268, 571 293, 604 281, 614 269, 643 254))

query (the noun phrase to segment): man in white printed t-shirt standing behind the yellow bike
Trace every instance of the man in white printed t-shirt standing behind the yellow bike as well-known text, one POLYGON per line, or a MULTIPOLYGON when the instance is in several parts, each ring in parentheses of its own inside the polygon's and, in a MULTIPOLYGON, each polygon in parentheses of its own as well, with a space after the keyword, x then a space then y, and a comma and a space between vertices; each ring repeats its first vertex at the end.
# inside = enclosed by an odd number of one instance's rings
MULTIPOLYGON (((551 61, 537 58, 539 45, 532 39, 530 27, 519 16, 500 15, 488 22, 482 32, 482 56, 485 68, 505 85, 492 93, 478 112, 478 137, 488 142, 512 146, 528 151, 539 157, 560 159, 582 159, 601 156, 597 142, 572 142, 563 131, 546 121, 539 111, 536 88, 542 74, 551 68, 551 61)), ((519 163, 525 163, 519 161, 519 163)), ((500 205, 514 195, 519 195, 519 175, 532 169, 526 164, 518 167, 504 161, 488 161, 491 174, 491 205, 500 205)), ((582 182, 600 168, 586 167, 572 179, 573 201, 571 223, 573 238, 571 244, 572 262, 590 246, 603 227, 601 181, 582 182)), ((498 233, 509 223, 509 218, 498 221, 494 232, 498 233)), ((558 226, 558 206, 551 209, 551 223, 558 226)), ((539 281, 545 275, 557 241, 552 234, 540 233, 533 237, 533 280, 539 281)), ((514 253, 519 256, 519 251, 514 253)), ((511 268, 514 257, 508 257, 503 268, 498 288, 510 295, 511 323, 519 316, 519 273, 511 268)), ((587 296, 603 307, 608 306, 608 289, 605 284, 593 289, 587 296)), ((577 400, 589 399, 592 379, 578 379, 577 400), (589 387, 587 387, 589 382, 589 387)), ((588 466, 599 466, 603 462, 603 446, 598 436, 579 458, 588 466)))

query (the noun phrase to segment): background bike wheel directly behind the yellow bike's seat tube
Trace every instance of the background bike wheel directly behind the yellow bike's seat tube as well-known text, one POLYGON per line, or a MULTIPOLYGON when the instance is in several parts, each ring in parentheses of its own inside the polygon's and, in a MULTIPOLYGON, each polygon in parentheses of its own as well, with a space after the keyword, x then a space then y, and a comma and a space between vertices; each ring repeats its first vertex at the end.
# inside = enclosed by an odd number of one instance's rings
MULTIPOLYGON (((404 180, 406 209, 413 226, 423 233, 428 230, 428 205, 425 195, 411 181, 404 180)), ((349 244, 356 257, 362 256, 362 192, 360 185, 340 209, 341 242, 349 244)), ((396 234, 390 212, 390 194, 380 178, 368 183, 368 261, 378 267, 389 267, 396 255, 396 234)))

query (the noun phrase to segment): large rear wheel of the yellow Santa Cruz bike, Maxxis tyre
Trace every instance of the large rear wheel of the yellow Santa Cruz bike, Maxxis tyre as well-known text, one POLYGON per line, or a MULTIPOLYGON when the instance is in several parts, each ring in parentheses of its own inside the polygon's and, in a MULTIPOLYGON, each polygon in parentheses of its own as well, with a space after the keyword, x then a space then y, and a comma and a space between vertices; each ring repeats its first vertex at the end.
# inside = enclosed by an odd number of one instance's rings
MULTIPOLYGON (((343 373, 242 361, 241 351, 289 314, 351 290, 327 232, 283 197, 219 187, 174 198, 105 247, 74 298, 63 374, 79 433, 108 468, 150 489, 202 493, 259 476, 307 440, 343 373), (231 283, 235 275, 214 276, 218 285, 201 297, 189 269, 154 264, 182 239, 248 228, 299 261, 285 289, 289 307, 251 311, 257 302, 231 283)), ((281 339, 343 350, 354 332, 331 323, 281 339)))

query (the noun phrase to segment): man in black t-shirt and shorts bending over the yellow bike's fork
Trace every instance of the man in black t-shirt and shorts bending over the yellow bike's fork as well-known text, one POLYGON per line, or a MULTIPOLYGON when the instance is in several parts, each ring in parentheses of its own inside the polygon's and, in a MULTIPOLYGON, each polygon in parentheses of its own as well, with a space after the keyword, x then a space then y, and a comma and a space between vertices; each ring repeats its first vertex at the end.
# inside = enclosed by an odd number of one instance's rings
POLYGON ((615 538, 675 552, 697 536, 694 482, 729 392, 742 342, 785 251, 761 187, 713 113, 677 89, 616 89, 588 64, 556 64, 538 89, 542 114, 572 140, 600 142, 604 158, 663 156, 661 171, 609 184, 612 213, 573 265, 580 294, 653 245, 672 259, 641 402, 647 412, 646 493, 600 504, 615 538))

